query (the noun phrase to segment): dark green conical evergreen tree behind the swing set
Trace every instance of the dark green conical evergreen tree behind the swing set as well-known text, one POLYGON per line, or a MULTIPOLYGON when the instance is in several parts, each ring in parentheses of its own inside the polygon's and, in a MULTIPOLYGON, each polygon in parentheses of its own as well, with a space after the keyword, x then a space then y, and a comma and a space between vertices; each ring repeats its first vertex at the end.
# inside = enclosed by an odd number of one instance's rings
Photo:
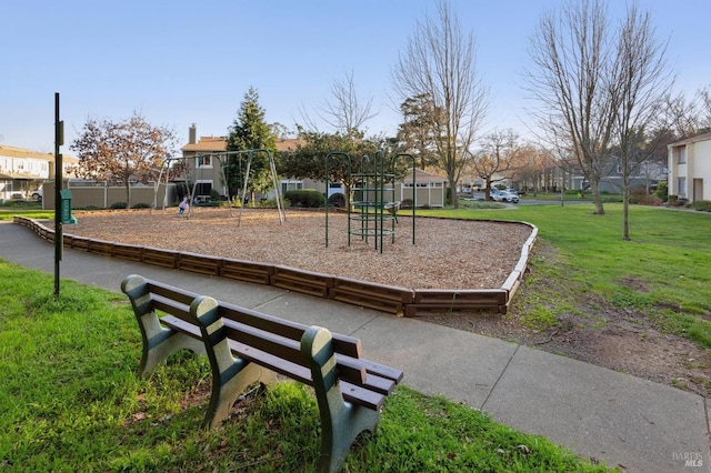
MULTIPOLYGON (((264 109, 259 104, 259 93, 253 87, 244 94, 238 117, 229 129, 228 151, 268 150, 272 157, 277 151, 277 139, 272 127, 264 122, 264 109)), ((239 195, 244 188, 249 154, 231 155, 228 162, 228 185, 231 195, 239 195)), ((269 157, 266 152, 252 153, 247 191, 250 201, 254 192, 267 192, 272 187, 269 157)), ((242 195, 242 199, 244 195, 242 195)))

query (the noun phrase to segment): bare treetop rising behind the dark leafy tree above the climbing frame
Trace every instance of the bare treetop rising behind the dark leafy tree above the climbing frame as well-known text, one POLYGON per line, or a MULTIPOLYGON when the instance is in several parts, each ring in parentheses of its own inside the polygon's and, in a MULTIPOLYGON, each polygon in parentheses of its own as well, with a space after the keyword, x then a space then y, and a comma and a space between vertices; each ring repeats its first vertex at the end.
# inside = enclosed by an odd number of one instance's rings
MULTIPOLYGON (((316 113, 321 121, 333 128, 337 132, 341 132, 347 137, 356 137, 358 132, 362 132, 363 124, 375 117, 372 113, 372 97, 362 100, 356 91, 356 82, 353 81, 353 72, 347 73, 343 79, 337 79, 331 84, 331 100, 327 100, 316 113)), ((301 117, 307 127, 313 131, 318 131, 316 121, 301 110, 301 117)))

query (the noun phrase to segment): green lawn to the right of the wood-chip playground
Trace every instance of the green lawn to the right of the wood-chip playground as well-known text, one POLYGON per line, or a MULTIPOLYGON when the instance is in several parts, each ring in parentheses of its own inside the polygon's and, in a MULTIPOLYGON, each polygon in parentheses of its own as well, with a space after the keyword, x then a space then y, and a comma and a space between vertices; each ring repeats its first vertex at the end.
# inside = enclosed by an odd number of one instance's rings
POLYGON ((575 294, 591 292, 618 308, 642 311, 663 330, 711 348, 711 323, 702 318, 711 313, 711 215, 632 205, 631 241, 625 241, 622 205, 607 203, 604 208, 604 215, 593 214, 591 203, 418 213, 537 225, 539 240, 558 251, 560 265, 534 258, 530 278, 565 282, 564 291, 552 288, 545 293, 541 288, 542 293, 530 295, 547 300, 541 305, 548 308, 543 320, 534 318, 539 324, 554 324, 551 314, 569 311, 575 305, 575 294))

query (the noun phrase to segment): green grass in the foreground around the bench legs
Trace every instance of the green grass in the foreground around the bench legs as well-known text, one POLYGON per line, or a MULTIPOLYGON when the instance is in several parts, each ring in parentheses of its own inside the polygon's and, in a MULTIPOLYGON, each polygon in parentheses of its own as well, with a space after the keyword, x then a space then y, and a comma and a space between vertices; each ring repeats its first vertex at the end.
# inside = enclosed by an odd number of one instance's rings
MULTIPOLYGON (((218 429, 200 429, 204 358, 178 354, 136 376, 140 334, 122 294, 0 260, 0 470, 301 472, 319 451, 314 399, 286 382, 254 390, 218 429)), ((347 472, 605 471, 443 397, 400 386, 347 472)))

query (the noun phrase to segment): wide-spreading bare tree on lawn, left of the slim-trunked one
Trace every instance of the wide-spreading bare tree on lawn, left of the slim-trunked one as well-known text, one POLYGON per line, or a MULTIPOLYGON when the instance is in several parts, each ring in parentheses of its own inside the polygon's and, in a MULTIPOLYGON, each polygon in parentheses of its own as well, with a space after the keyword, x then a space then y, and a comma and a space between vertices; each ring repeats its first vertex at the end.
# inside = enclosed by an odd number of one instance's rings
POLYGON ((604 213, 599 183, 618 110, 611 39, 600 0, 568 3, 560 14, 541 18, 531 38, 534 68, 527 72, 528 89, 540 104, 532 115, 541 138, 575 155, 599 214, 604 213))

